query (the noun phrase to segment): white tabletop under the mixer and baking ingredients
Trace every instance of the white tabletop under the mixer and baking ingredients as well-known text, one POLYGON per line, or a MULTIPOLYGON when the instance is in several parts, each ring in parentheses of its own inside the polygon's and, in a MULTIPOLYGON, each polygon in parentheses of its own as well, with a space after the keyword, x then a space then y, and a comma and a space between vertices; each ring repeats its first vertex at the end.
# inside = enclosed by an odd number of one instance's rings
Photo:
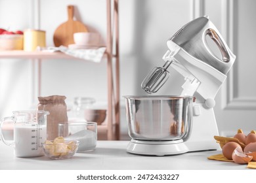
POLYGON ((209 160, 220 151, 189 152, 173 156, 141 156, 126 152, 129 141, 98 141, 91 152, 76 153, 71 159, 16 158, 13 148, 0 142, 1 170, 246 170, 247 165, 209 160))

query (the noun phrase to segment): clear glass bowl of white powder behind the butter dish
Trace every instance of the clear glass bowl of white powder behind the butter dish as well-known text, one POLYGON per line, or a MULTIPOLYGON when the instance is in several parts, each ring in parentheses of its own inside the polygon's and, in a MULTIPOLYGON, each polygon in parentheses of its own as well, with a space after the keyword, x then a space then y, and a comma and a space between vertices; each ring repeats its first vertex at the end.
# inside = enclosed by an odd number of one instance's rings
POLYGON ((79 141, 77 152, 87 152, 96 148, 96 122, 66 122, 58 124, 58 136, 65 140, 79 141))

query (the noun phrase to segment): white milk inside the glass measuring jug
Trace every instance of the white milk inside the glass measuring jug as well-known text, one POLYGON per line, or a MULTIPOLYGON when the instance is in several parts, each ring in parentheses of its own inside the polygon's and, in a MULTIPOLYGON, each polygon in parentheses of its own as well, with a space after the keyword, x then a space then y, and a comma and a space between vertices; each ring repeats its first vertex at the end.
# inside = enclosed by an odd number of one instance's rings
POLYGON ((46 125, 28 124, 14 126, 16 157, 43 156, 43 142, 47 139, 46 125))

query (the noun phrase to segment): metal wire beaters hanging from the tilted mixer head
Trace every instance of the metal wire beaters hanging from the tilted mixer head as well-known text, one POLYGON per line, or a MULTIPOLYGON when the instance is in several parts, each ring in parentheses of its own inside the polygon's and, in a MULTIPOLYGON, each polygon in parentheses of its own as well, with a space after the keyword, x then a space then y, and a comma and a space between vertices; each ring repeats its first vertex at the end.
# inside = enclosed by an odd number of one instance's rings
POLYGON ((147 93, 156 93, 170 76, 167 71, 173 61, 166 61, 163 67, 154 67, 142 81, 141 88, 147 93))

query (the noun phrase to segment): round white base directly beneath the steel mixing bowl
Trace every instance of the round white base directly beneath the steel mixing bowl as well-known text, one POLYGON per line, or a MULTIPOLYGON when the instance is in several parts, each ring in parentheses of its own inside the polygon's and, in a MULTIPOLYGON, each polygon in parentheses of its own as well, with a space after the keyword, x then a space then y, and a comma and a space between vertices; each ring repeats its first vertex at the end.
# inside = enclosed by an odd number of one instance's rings
POLYGON ((165 156, 183 154, 188 152, 188 147, 182 140, 177 141, 138 141, 131 139, 127 152, 132 154, 165 156))

